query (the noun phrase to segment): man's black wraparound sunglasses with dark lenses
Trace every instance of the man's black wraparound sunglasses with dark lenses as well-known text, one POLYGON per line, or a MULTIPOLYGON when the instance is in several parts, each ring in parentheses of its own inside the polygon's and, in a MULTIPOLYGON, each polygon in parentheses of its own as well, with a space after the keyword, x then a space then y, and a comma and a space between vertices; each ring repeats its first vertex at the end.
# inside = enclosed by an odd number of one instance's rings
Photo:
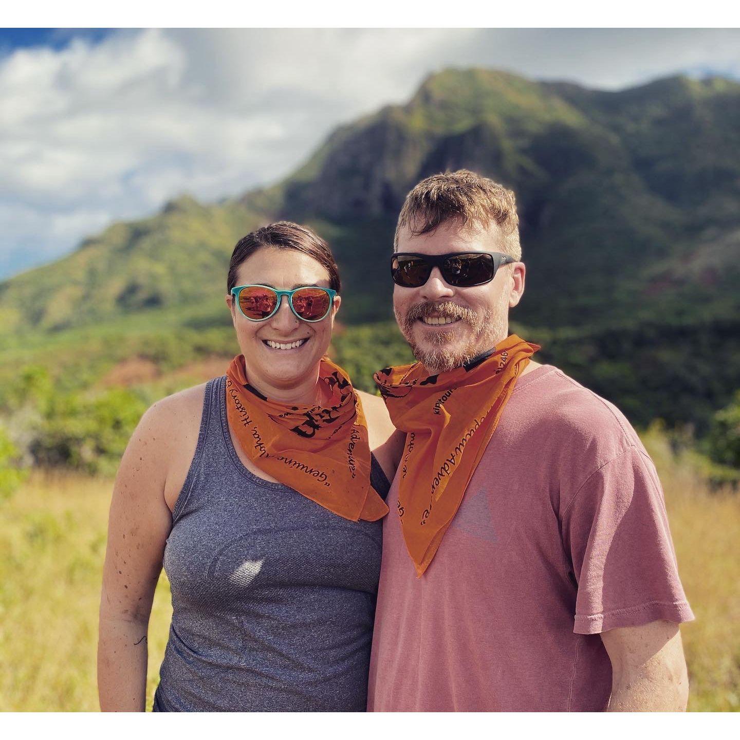
POLYGON ((445 283, 456 288, 471 288, 490 283, 502 265, 517 262, 501 252, 451 252, 449 255, 420 255, 396 252, 391 258, 391 275, 396 285, 418 288, 439 267, 445 283))

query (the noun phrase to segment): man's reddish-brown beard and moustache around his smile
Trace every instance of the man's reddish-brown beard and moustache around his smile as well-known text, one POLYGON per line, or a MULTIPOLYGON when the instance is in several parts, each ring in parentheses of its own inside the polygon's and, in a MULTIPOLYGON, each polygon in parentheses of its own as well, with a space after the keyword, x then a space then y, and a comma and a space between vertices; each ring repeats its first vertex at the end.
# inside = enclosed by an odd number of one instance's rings
MULTIPOLYGON (((502 296, 503 298, 503 296, 502 296)), ((491 349, 497 342, 508 334, 508 301, 501 300, 499 306, 491 306, 482 314, 477 314, 471 309, 460 306, 450 300, 434 303, 425 301, 411 306, 404 316, 394 309, 396 320, 403 337, 411 347, 414 357, 431 373, 447 372, 460 367, 474 357, 491 349), (447 331, 428 332, 424 346, 420 346, 414 340, 414 325, 421 317, 436 314, 443 318, 460 319, 472 327, 473 333, 464 346, 454 346, 455 327, 459 324, 449 325, 447 331), (428 345, 433 344, 431 349, 428 345)))

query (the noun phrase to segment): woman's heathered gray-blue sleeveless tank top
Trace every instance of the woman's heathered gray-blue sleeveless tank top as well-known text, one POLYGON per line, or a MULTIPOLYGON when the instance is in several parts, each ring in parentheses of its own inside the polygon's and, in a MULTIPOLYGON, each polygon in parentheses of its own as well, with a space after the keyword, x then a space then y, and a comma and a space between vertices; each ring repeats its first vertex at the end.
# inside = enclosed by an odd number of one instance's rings
MULTIPOLYGON (((372 458, 371 482, 388 480, 372 458)), ((364 711, 381 522, 350 522, 244 467, 210 380, 172 513, 172 625, 155 711, 364 711)))

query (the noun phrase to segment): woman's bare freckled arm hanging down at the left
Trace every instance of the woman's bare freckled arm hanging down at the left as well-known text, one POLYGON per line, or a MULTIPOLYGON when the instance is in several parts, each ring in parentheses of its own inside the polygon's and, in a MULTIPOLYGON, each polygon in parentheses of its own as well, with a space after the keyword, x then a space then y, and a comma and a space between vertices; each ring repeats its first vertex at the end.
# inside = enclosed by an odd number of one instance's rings
POLYGON ((98 632, 103 711, 145 710, 149 613, 172 523, 164 497, 167 406, 141 418, 113 488, 98 632))

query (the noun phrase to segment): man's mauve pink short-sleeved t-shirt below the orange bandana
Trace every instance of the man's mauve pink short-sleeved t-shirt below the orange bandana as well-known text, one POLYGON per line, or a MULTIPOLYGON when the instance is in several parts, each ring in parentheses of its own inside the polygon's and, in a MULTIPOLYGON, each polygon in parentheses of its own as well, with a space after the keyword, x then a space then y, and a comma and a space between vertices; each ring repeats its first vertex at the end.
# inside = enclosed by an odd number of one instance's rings
POLYGON ((653 462, 615 406, 552 366, 517 382, 420 579, 397 486, 370 711, 603 710, 599 633, 693 619, 653 462))

